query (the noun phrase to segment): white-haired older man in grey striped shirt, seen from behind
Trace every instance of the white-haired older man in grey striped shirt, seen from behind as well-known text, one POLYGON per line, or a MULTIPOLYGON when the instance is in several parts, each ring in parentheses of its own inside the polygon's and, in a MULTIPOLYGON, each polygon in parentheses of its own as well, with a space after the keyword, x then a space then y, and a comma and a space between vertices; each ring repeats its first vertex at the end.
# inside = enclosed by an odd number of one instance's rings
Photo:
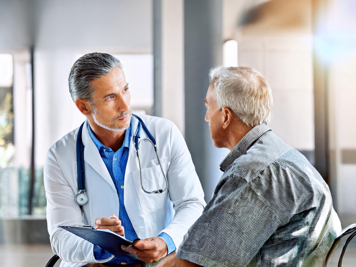
POLYGON ((266 80, 250 67, 217 67, 210 78, 205 120, 230 153, 203 215, 159 266, 323 266, 340 220, 320 174, 268 127, 266 80))

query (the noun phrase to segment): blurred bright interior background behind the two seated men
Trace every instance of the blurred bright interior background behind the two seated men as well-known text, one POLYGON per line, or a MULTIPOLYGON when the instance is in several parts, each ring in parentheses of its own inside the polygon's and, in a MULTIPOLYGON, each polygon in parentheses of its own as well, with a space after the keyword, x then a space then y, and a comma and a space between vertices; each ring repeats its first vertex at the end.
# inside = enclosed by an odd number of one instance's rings
POLYGON ((355 14, 355 0, 0 0, 2 261, 45 266, 53 254, 43 164, 85 120, 68 75, 88 52, 122 61, 133 112, 178 126, 206 201, 228 153, 204 121, 209 69, 257 69, 273 91, 270 127, 323 176, 342 226, 356 223, 355 14))

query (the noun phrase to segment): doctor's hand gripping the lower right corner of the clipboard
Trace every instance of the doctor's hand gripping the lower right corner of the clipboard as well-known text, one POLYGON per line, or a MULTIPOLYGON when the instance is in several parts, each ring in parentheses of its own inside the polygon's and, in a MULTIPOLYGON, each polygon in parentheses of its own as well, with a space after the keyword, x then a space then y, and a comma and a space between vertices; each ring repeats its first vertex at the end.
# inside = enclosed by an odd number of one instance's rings
POLYGON ((139 260, 147 263, 156 262, 167 256, 167 244, 158 236, 135 240, 132 246, 122 245, 121 249, 137 255, 139 260))

